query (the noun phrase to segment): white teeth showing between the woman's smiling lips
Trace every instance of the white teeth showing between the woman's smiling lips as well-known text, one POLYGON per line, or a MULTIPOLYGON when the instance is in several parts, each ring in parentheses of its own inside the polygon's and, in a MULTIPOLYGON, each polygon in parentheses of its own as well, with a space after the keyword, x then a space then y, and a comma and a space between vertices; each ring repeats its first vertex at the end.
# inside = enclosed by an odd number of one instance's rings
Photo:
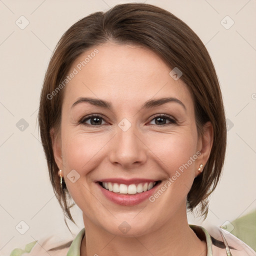
POLYGON ((161 180, 154 182, 141 182, 138 184, 119 184, 114 182, 101 182, 99 181, 99 185, 104 189, 114 192, 116 194, 136 194, 142 193, 152 189, 154 186, 159 184, 161 180))

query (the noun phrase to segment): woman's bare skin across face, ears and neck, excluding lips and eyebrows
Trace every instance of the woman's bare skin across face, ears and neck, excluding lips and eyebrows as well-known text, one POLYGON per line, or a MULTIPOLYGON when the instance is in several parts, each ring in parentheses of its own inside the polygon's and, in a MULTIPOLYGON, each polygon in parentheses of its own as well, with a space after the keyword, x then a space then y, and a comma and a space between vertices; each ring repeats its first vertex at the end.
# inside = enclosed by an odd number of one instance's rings
POLYGON ((81 255, 206 255, 205 241, 188 226, 186 195, 199 165, 209 157, 211 124, 206 123, 198 137, 186 84, 175 81, 171 69, 144 47, 112 42, 92 47, 74 61, 70 72, 94 48, 99 52, 64 88, 56 139, 51 130, 55 161, 83 212, 86 235, 81 255), (113 109, 88 102, 71 107, 81 96, 107 100, 113 109), (146 100, 166 96, 179 99, 186 109, 177 102, 141 109, 146 100), (101 115, 101 125, 93 124, 93 119, 78 123, 90 114, 101 115), (163 119, 165 125, 157 123, 155 117, 161 114, 177 123, 168 119, 163 119), (131 124, 127 131, 118 127, 123 118, 131 124), (164 184, 197 151, 200 156, 154 202, 118 205, 95 184, 111 177, 151 178, 164 184), (72 169, 80 175, 74 183, 66 176, 72 169), (130 226, 126 233, 118 228, 123 221, 130 226))

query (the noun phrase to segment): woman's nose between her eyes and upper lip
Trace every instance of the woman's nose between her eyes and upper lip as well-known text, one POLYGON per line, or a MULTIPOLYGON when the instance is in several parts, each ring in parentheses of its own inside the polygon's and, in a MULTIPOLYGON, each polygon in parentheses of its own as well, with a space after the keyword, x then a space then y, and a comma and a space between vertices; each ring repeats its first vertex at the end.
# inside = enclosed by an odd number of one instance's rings
POLYGON ((112 138, 109 161, 123 169, 138 167, 146 161, 146 147, 142 133, 132 124, 126 131, 117 127, 112 138))

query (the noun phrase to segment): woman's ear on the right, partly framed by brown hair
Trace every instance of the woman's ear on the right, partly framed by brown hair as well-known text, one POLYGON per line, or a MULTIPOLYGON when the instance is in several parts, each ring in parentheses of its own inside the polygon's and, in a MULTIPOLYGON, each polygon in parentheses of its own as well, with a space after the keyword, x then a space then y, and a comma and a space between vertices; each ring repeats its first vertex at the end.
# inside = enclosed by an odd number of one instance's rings
POLYGON ((197 157, 195 173, 194 176, 196 177, 200 172, 198 171, 199 165, 202 163, 203 167, 205 166, 211 151, 213 143, 213 127, 210 121, 206 122, 203 125, 203 134, 198 137, 197 141, 197 151, 201 154, 197 157))

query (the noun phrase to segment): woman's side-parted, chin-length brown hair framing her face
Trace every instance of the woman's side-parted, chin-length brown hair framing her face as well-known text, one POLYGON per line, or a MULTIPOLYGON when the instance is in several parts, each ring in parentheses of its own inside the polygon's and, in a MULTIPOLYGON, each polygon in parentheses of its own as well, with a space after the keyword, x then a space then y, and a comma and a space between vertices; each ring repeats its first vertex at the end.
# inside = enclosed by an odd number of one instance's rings
MULTIPOLYGON (((203 172, 193 181, 187 195, 187 208, 201 206, 207 215, 207 197, 215 189, 223 167, 226 149, 226 124, 221 91, 211 58, 199 37, 179 18, 151 4, 118 4, 106 12, 92 13, 74 23, 60 38, 44 77, 38 113, 41 141, 46 155, 50 181, 59 204, 70 220, 65 185, 60 189, 50 129, 59 134, 64 88, 47 97, 64 79, 73 61, 85 50, 107 41, 142 45, 158 54, 170 70, 178 67, 193 97, 196 127, 213 126, 213 143, 203 172)), ((100 53, 99 53, 100 54, 100 53)), ((74 221, 73 221, 74 222, 74 221)))

